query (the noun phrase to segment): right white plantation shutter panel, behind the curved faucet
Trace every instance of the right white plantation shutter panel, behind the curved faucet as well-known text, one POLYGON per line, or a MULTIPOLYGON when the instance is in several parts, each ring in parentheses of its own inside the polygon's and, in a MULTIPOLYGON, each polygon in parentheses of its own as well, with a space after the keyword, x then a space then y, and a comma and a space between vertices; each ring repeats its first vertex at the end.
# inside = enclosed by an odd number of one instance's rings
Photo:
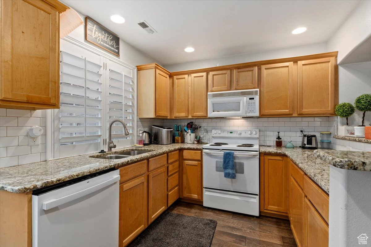
MULTIPOLYGON (((107 110, 106 126, 114 119, 123 120, 129 131, 124 135, 121 123, 112 126, 112 140, 118 147, 127 147, 134 144, 134 81, 130 70, 120 64, 107 60, 106 84, 107 84, 107 110)), ((108 130, 107 130, 108 131, 108 130)), ((108 136, 107 132, 107 136, 108 136)))

